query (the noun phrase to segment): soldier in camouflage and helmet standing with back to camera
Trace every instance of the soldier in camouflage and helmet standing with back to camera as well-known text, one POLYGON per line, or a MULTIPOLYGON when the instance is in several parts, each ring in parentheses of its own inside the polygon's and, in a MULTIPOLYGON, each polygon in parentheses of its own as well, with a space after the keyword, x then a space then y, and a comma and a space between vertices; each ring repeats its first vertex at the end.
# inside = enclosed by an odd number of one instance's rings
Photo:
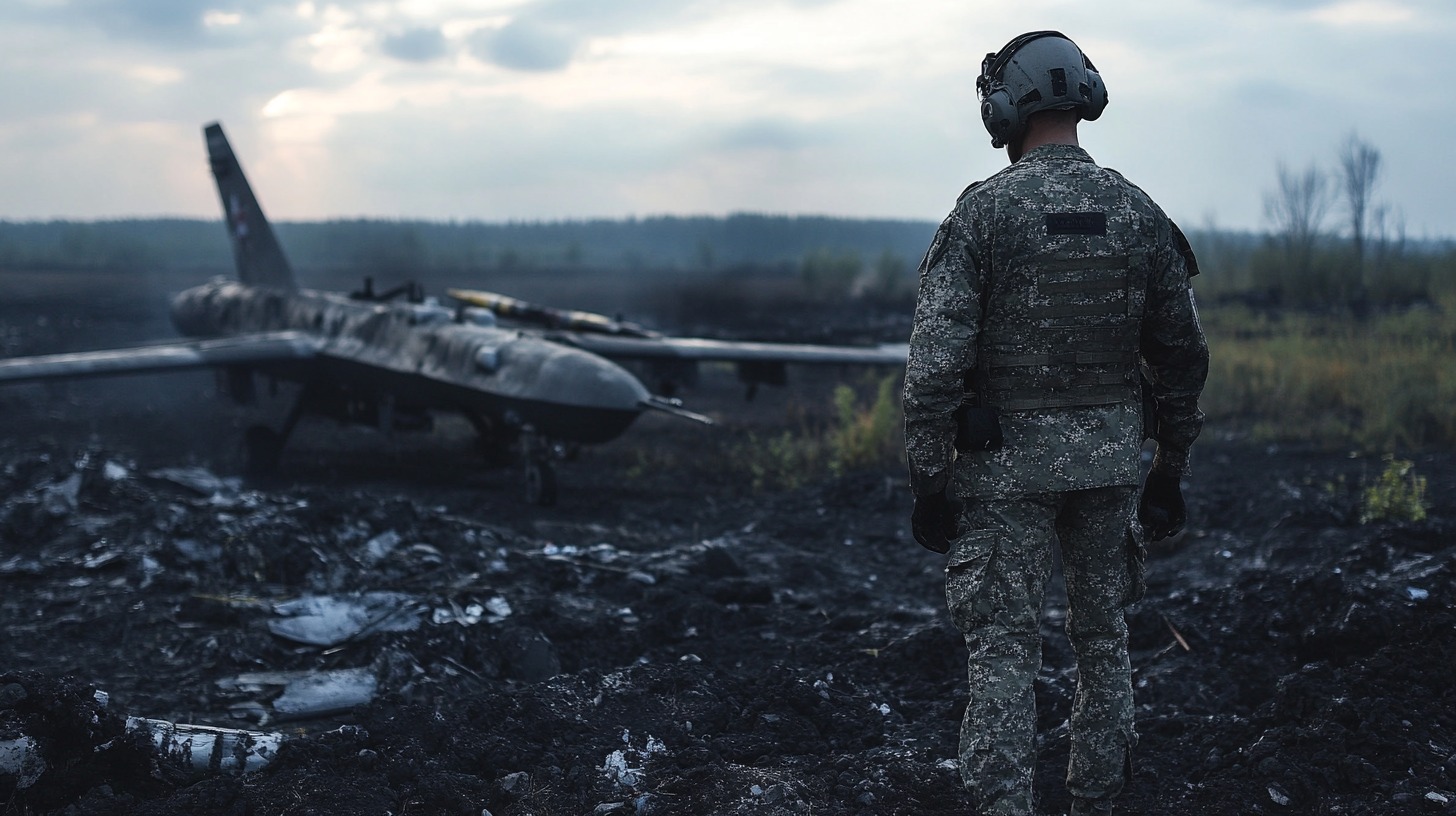
POLYGON ((1032 813, 1032 680, 1060 545, 1077 660, 1072 813, 1111 813, 1137 742, 1124 608, 1143 592, 1143 542, 1182 530, 1203 427, 1198 270, 1168 216, 1077 146, 1107 90, 1076 44, 1018 36, 987 54, 977 92, 1012 163, 961 194, 920 265, 904 388, 911 527, 948 554, 946 602, 970 650, 961 775, 980 813, 1032 813), (1158 452, 1139 501, 1147 436, 1158 452))

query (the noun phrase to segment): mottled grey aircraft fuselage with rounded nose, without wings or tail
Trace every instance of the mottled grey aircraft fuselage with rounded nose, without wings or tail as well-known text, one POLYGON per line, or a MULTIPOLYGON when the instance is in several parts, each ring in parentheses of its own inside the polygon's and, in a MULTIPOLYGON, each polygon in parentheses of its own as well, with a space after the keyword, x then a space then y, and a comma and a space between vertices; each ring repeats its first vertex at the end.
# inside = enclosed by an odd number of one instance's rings
POLYGON ((329 389, 374 417, 402 411, 467 415, 562 442, 603 443, 649 399, 626 369, 515 329, 457 321, 434 303, 355 300, 215 280, 172 302, 172 322, 195 338, 294 331, 313 338, 309 361, 259 366, 265 374, 329 389))

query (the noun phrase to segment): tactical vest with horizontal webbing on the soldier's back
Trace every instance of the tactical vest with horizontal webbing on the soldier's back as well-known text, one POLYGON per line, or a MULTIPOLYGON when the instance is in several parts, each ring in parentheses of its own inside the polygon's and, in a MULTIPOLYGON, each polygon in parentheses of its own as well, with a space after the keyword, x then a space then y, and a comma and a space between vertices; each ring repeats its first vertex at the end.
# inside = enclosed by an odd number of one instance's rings
POLYGON ((983 405, 1040 411, 1140 399, 1147 254, 1091 255, 1076 243, 996 275, 974 383, 983 405))

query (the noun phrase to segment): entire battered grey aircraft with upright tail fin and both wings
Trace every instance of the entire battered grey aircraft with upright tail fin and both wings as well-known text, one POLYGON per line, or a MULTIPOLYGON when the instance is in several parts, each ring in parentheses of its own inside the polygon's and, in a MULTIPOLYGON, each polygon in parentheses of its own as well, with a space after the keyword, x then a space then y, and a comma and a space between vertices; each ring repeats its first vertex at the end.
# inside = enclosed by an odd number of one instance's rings
MULTIPOLYGON (((255 472, 277 466, 304 415, 396 431, 428 430, 432 412, 459 412, 488 449, 520 455, 527 500, 549 506, 553 459, 616 439, 645 411, 709 421, 654 395, 622 363, 683 374, 699 361, 729 361, 750 392, 760 382, 780 385, 789 363, 906 363, 904 345, 662 337, 475 290, 454 291, 460 305, 451 309, 414 284, 376 293, 365 281, 351 294, 300 289, 221 125, 205 125, 204 137, 237 280, 175 297, 172 322, 194 340, 0 360, 0 383, 213 367, 243 405, 256 401, 259 377, 300 383, 281 428, 248 428, 246 466, 255 472), (498 318, 527 325, 508 328, 498 318)), ((670 386, 673 377, 661 382, 670 386)))

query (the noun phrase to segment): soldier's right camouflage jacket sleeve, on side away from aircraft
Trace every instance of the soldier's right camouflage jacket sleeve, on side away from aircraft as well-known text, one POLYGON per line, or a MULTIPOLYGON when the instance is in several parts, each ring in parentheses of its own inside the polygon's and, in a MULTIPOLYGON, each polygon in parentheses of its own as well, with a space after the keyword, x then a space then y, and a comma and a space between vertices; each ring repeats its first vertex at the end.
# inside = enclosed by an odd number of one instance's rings
POLYGON ((1158 455, 1153 471, 1188 474, 1188 450, 1203 430, 1198 396, 1208 379, 1208 342, 1198 323, 1191 277, 1198 274, 1192 249, 1172 221, 1155 254, 1143 318, 1142 354, 1158 401, 1158 455))

